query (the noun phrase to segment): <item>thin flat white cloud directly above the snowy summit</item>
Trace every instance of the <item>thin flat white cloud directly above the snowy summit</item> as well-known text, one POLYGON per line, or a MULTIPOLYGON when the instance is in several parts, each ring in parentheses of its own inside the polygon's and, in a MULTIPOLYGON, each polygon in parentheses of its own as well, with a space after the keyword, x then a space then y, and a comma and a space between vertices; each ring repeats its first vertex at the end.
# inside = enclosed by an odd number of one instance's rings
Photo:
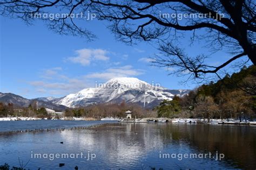
POLYGON ((122 66, 122 67, 113 67, 104 70, 104 72, 100 73, 91 73, 86 75, 87 78, 96 78, 102 80, 109 80, 114 77, 131 77, 131 76, 138 76, 144 74, 144 70, 142 69, 134 69, 130 65, 122 66))

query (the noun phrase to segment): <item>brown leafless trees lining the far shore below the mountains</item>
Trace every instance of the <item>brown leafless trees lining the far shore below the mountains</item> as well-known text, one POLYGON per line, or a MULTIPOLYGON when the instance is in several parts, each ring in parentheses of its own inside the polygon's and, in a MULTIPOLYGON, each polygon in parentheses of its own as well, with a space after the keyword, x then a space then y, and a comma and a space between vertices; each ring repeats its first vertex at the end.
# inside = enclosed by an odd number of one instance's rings
MULTIPOLYGON (((29 105, 28 108, 14 109, 15 106, 12 103, 4 104, 0 103, 0 117, 8 116, 22 116, 22 117, 38 117, 38 118, 51 118, 55 117, 49 114, 45 108, 36 108, 33 105, 29 105), (18 111, 21 110, 21 111, 18 111)), ((137 104, 130 104, 122 102, 120 104, 97 104, 90 105, 88 107, 69 108, 63 111, 65 117, 125 117, 125 111, 131 110, 133 116, 138 118, 142 117, 156 117, 157 112, 154 110, 144 109, 137 104)))

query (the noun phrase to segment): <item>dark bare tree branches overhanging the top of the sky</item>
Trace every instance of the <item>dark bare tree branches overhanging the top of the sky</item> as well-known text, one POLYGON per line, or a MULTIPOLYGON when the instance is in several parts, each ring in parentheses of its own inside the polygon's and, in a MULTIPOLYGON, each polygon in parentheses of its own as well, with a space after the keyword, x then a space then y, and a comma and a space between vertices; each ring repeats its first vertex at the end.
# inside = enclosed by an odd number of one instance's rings
MULTIPOLYGON (((231 62, 246 57, 256 65, 256 2, 254 0, 2 0, 3 16, 18 17, 31 23, 36 13, 68 11, 69 15, 55 19, 43 19, 50 29, 92 40, 95 36, 79 27, 72 13, 87 10, 97 14, 99 20, 109 20, 109 28, 116 38, 128 44, 134 40, 157 42, 161 55, 154 57, 153 65, 175 67, 174 73, 192 73, 203 78, 206 73, 216 74, 231 62), (168 12, 168 13, 166 13, 168 12), (173 15, 174 14, 174 15, 173 15), (184 17, 180 20, 180 14, 184 17), (200 17, 204 16, 204 17, 200 17), (202 33, 203 30, 204 33, 202 33), (211 51, 227 50, 230 59, 219 66, 204 62, 204 54, 190 56, 180 46, 185 33, 191 35, 191 43, 207 42, 211 51)), ((226 57, 226 56, 223 56, 226 57)), ((248 60, 245 60, 248 61, 248 60)))

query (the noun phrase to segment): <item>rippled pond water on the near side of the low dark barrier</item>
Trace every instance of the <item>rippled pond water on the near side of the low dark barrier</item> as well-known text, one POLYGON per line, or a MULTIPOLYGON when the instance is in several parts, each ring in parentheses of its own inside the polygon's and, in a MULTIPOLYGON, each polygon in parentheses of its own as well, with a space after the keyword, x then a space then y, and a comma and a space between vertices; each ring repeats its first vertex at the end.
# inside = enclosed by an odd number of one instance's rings
POLYGON ((0 165, 26 169, 255 169, 256 127, 108 123, 79 130, 0 133, 0 151, 0 165), (220 160, 220 155, 225 157, 220 160))

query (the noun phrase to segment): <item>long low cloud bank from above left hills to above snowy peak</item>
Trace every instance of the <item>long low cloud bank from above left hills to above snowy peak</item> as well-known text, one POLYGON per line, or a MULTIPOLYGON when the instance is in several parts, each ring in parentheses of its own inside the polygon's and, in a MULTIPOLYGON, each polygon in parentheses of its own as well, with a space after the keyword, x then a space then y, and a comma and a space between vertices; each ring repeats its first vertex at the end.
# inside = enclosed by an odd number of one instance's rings
POLYGON ((109 80, 114 77, 131 77, 144 74, 142 69, 134 69, 131 65, 112 67, 102 72, 70 77, 63 74, 61 68, 45 69, 41 80, 30 81, 29 84, 40 94, 68 95, 84 88, 95 87, 96 80, 109 80))

